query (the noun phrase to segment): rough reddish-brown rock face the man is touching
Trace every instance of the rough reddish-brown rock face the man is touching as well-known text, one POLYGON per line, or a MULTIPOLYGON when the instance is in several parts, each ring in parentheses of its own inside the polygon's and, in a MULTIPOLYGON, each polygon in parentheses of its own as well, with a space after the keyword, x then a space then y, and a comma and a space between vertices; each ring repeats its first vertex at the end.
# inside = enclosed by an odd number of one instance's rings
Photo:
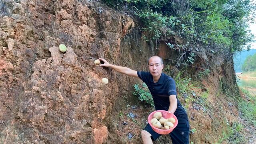
POLYGON ((94 1, 0 1, 0 142, 115 140, 108 138, 116 130, 115 102, 135 79, 94 60, 133 69, 145 64, 135 56, 140 50, 120 47, 133 27, 130 17, 94 1))

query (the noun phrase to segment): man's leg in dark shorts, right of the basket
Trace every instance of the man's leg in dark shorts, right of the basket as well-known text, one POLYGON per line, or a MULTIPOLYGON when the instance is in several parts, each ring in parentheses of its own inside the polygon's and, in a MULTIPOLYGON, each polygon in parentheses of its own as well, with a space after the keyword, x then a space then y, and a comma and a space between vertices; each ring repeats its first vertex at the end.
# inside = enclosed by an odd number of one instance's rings
POLYGON ((177 127, 170 133, 172 144, 189 143, 189 122, 178 123, 177 127))

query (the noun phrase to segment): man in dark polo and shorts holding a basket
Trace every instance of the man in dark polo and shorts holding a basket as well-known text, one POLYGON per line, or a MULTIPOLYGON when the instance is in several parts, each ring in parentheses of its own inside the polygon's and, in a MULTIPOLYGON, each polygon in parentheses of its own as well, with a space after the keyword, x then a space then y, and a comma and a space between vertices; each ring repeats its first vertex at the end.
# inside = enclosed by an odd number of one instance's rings
MULTIPOLYGON (((152 56, 148 59, 149 72, 135 71, 130 68, 115 66, 109 64, 103 58, 100 58, 105 66, 112 68, 122 74, 140 78, 145 82, 150 90, 156 110, 166 110, 173 113, 178 119, 178 125, 170 133, 173 144, 188 144, 189 143, 189 122, 186 111, 181 106, 179 100, 176 98, 176 87, 174 80, 162 73, 164 64, 162 58, 159 56, 152 56)), ((154 132, 148 124, 144 130, 141 131, 141 136, 144 144, 153 144, 160 134, 154 132)))

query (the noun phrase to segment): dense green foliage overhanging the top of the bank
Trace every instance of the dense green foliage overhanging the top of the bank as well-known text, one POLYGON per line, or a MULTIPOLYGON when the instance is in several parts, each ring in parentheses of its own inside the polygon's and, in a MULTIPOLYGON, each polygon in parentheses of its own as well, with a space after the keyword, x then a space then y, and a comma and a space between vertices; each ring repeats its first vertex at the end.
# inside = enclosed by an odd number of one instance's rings
MULTIPOLYGON (((163 40, 170 48, 193 50, 196 48, 191 48, 192 44, 205 48, 220 44, 222 50, 236 52, 253 40, 248 26, 254 19, 255 4, 250 0, 104 1, 115 8, 123 8, 122 4, 128 6, 142 22, 142 30, 148 32, 147 40, 163 40), (186 44, 176 44, 170 38, 172 35, 180 36, 186 44)), ((194 60, 188 61, 192 63, 194 60)))

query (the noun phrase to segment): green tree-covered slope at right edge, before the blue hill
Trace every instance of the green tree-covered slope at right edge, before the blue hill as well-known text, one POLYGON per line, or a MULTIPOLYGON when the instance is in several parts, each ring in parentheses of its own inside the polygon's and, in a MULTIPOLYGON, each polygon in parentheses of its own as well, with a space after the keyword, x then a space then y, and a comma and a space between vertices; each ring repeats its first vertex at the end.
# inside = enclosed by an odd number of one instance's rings
POLYGON ((250 55, 245 59, 242 71, 256 71, 256 54, 250 55))

